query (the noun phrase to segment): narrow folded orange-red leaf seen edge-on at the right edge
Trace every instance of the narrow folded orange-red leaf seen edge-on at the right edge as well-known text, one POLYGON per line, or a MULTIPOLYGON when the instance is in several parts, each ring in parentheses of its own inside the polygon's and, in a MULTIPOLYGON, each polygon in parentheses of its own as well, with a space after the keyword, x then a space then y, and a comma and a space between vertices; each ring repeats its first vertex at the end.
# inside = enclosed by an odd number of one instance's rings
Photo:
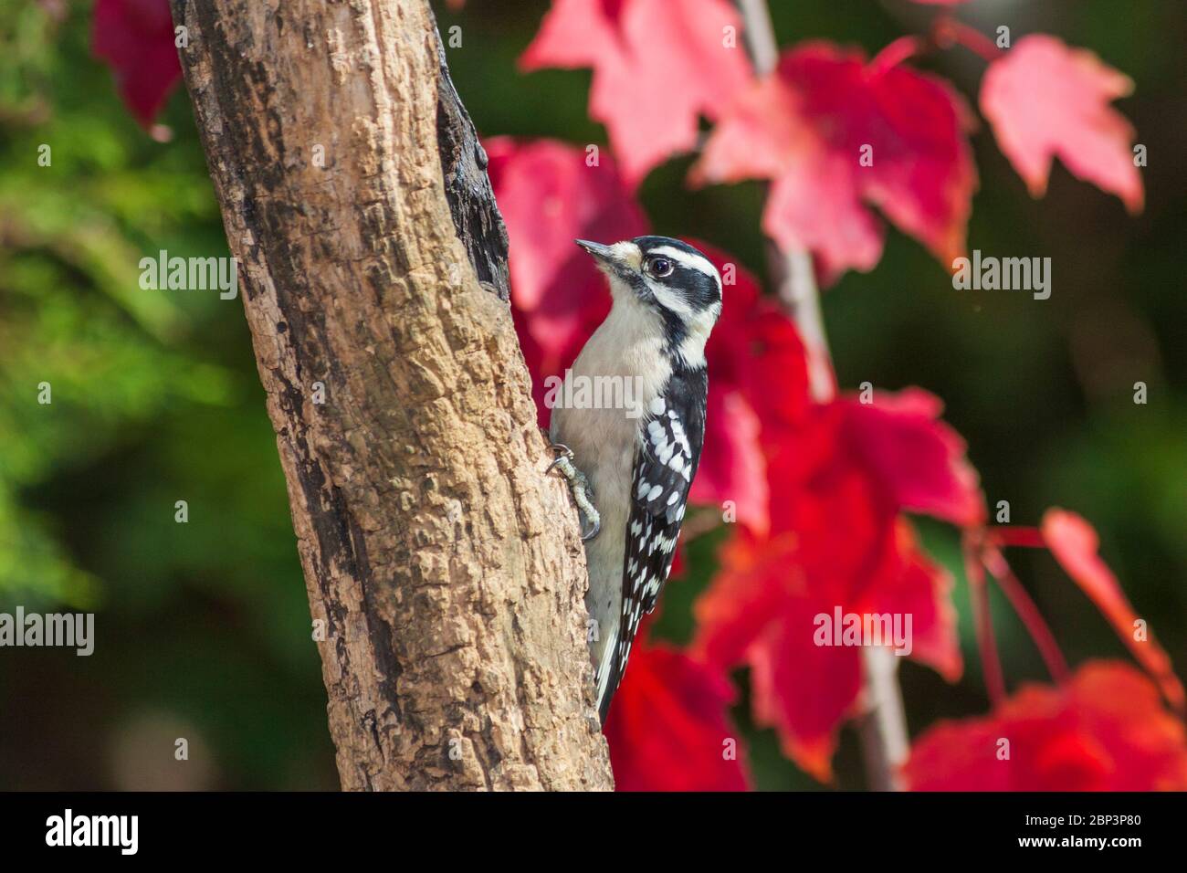
POLYGON ((1099 538, 1080 515, 1053 508, 1043 514, 1042 539, 1068 576, 1084 590, 1129 646, 1138 663, 1159 683, 1167 701, 1183 709, 1183 687, 1175 676, 1166 650, 1138 625, 1134 607, 1109 565, 1097 553, 1099 538))

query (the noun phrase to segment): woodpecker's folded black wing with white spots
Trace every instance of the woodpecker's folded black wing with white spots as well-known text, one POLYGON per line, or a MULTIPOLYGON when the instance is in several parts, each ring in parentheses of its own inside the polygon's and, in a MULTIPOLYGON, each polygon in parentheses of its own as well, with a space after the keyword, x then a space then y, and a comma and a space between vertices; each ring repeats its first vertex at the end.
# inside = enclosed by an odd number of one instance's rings
POLYGON ((709 377, 704 368, 678 371, 642 420, 635 449, 622 571, 622 614, 602 720, 622 679, 643 613, 655 608, 675 557, 685 504, 705 438, 709 377))

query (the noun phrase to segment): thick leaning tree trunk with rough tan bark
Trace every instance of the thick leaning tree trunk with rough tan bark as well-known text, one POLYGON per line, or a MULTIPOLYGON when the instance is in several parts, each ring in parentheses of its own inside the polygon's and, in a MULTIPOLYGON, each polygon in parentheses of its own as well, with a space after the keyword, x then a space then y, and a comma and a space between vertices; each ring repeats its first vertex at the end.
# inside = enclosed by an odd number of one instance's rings
POLYGON ((426 0, 172 7, 343 787, 610 787, 577 518, 426 0))

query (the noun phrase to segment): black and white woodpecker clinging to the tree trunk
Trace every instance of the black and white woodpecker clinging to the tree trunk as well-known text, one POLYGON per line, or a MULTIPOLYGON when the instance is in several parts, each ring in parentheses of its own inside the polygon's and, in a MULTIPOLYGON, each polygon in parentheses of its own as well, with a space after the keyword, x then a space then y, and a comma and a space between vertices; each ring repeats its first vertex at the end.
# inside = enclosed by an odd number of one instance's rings
POLYGON ((605 725, 640 619, 655 608, 672 569, 700 464, 705 343, 722 312, 723 289, 712 261, 681 240, 576 242, 605 274, 612 305, 565 372, 572 390, 556 392, 561 401, 552 406, 548 436, 559 454, 550 469, 567 480, 590 529, 583 532, 585 606, 605 725), (588 388, 599 379, 621 388, 614 394, 621 403, 608 407, 596 392, 590 401, 588 388))

